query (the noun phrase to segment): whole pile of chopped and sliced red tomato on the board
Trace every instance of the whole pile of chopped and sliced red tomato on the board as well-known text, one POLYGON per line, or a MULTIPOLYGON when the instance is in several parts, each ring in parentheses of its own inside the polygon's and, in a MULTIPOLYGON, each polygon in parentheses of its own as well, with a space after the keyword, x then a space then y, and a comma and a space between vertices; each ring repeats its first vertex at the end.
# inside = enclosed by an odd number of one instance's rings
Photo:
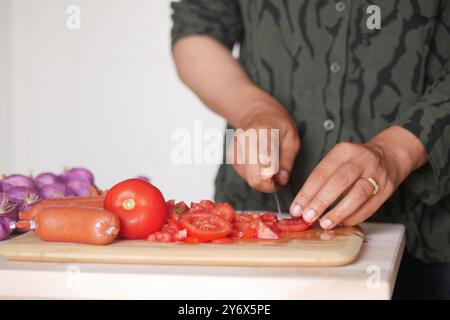
POLYGON ((272 212, 236 213, 228 203, 202 200, 187 206, 175 200, 166 203, 168 218, 148 241, 229 244, 237 240, 279 240, 283 233, 310 227, 302 219, 278 220, 272 212))

